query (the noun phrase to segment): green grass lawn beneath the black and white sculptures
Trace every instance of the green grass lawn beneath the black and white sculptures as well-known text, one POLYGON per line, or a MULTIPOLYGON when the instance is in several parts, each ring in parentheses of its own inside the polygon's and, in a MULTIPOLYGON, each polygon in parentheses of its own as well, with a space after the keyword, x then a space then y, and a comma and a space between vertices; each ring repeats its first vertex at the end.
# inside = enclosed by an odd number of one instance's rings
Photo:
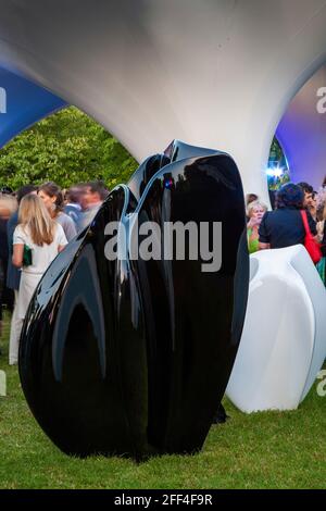
MULTIPOLYGON (((244 415, 225 400, 231 419, 212 426, 202 452, 164 456, 136 464, 128 459, 68 458, 35 422, 16 367, 8 360, 9 321, 1 339, 1 488, 325 488, 326 397, 311 390, 299 410, 244 415)), ((187 424, 185 424, 187 427, 187 424)))

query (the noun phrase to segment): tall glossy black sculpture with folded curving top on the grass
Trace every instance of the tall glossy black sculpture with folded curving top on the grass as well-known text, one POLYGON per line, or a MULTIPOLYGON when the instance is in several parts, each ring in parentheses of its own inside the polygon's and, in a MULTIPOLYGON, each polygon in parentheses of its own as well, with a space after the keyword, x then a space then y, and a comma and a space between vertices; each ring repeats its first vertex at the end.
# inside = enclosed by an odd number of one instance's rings
POLYGON ((225 391, 241 336, 249 261, 233 159, 175 141, 116 187, 58 256, 32 300, 20 375, 40 426, 88 456, 193 452, 225 391), (222 222, 222 267, 104 256, 105 225, 222 222))

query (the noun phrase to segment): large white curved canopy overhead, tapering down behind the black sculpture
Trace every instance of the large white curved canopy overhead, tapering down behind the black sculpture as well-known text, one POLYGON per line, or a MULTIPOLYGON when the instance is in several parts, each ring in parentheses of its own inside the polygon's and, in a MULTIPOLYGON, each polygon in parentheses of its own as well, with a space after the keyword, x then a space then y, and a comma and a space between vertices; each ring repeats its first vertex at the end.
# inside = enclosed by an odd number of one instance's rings
POLYGON ((172 139, 227 151, 265 200, 276 126, 326 62, 325 0, 0 0, 0 13, 1 65, 138 161, 172 139))

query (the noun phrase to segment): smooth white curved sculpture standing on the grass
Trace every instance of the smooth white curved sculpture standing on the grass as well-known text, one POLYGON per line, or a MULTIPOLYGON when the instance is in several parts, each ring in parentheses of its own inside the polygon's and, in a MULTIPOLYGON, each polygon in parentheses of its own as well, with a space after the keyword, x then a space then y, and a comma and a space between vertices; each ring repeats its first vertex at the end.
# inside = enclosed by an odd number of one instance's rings
POLYGON ((326 290, 303 246, 250 257, 242 338, 226 389, 243 412, 296 409, 326 357, 326 290))

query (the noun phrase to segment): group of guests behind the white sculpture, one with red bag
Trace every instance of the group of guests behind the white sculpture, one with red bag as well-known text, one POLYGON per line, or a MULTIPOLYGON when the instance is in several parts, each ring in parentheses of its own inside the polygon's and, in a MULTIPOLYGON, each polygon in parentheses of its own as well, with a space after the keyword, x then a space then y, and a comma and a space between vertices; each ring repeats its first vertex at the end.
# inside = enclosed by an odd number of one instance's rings
POLYGON ((271 200, 273 211, 254 194, 246 200, 249 252, 305 245, 309 230, 321 249, 316 267, 326 285, 326 177, 318 192, 308 183, 281 186, 271 200))

